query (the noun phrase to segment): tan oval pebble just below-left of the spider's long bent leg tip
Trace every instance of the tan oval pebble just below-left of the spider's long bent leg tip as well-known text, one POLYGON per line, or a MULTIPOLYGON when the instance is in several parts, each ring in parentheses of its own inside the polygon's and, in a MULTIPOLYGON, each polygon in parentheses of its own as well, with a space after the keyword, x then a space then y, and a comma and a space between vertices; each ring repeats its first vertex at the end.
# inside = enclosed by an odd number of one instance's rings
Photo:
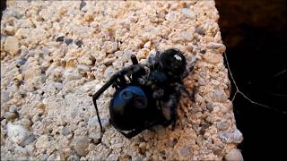
POLYGON ((75 139, 74 150, 79 156, 85 157, 89 153, 89 144, 90 141, 86 136, 80 136, 75 139))

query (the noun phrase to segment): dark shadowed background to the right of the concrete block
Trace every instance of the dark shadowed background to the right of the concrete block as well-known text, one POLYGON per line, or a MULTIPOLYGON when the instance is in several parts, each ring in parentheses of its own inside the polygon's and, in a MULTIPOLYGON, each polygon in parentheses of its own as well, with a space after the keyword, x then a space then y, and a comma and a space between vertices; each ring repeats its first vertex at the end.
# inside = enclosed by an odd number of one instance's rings
MULTIPOLYGON (((246 160, 286 160, 287 44, 286 1, 215 0, 223 43, 240 96, 234 100, 236 122, 244 136, 246 160), (284 158, 284 159, 283 159, 284 158)), ((232 85, 231 96, 235 92, 232 85)))

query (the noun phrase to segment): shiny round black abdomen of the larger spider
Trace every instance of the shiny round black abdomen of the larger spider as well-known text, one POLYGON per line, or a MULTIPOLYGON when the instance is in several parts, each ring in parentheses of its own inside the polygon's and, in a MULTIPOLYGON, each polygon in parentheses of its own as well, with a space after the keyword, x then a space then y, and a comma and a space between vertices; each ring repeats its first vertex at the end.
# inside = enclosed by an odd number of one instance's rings
POLYGON ((130 131, 154 120, 159 110, 147 90, 138 86, 117 89, 109 105, 110 123, 115 128, 130 131))

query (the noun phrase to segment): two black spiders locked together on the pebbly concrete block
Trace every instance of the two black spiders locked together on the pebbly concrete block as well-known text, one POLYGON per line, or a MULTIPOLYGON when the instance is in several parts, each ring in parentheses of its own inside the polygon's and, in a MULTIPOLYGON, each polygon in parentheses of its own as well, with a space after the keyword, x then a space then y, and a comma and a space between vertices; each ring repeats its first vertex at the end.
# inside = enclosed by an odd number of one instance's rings
POLYGON ((182 93, 189 96, 182 82, 188 74, 186 57, 170 48, 151 55, 147 64, 138 64, 135 55, 131 60, 132 65, 112 75, 92 96, 99 123, 97 99, 112 86, 116 92, 109 104, 109 123, 126 138, 157 124, 174 128, 179 98, 182 93))

